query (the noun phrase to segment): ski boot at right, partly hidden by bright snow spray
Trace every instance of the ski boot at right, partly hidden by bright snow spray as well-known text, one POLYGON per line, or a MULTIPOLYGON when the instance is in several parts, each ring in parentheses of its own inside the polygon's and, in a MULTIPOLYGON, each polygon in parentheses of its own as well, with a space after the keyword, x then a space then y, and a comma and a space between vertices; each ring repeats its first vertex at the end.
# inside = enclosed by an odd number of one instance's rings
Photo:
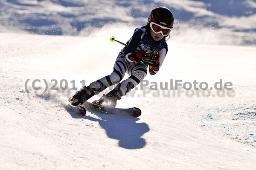
POLYGON ((120 89, 113 89, 111 92, 109 92, 107 95, 102 95, 102 97, 94 101, 94 104, 102 105, 104 107, 116 107, 116 101, 120 100, 122 97, 122 91, 120 89))

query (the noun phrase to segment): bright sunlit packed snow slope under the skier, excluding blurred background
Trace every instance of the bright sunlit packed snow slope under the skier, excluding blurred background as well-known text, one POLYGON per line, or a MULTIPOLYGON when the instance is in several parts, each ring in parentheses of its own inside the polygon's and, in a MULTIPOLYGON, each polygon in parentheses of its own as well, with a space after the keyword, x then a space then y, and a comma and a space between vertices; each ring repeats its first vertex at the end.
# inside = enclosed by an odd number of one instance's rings
POLYGON ((218 45, 217 32, 172 32, 157 75, 118 101, 139 107, 139 118, 72 111, 67 95, 112 72, 123 46, 110 36, 126 42, 135 28, 116 23, 80 37, 0 33, 0 169, 255 169, 256 48, 218 45), (197 36, 186 41, 190 33, 197 36), (233 89, 169 88, 171 80, 213 87, 220 79, 233 89))

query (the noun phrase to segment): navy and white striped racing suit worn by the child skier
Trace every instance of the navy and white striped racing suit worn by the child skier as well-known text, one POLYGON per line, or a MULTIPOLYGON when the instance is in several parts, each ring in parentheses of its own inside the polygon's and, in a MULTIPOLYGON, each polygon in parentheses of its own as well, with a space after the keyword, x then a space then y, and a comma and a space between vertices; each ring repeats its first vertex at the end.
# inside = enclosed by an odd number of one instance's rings
MULTIPOLYGON (((127 92, 137 86, 140 81, 145 78, 148 68, 147 64, 134 63, 131 61, 131 54, 133 52, 140 51, 157 51, 160 55, 160 68, 168 50, 165 38, 160 41, 154 41, 150 33, 147 32, 146 26, 135 29, 134 35, 126 44, 127 46, 125 46, 121 52, 119 52, 119 55, 116 58, 113 72, 110 75, 94 81, 89 85, 95 94, 99 94, 99 92, 103 91, 109 86, 119 84, 124 78, 126 72, 130 77, 118 85, 119 89, 122 91, 122 95, 126 95, 127 92)), ((159 71, 159 68, 157 70, 149 69, 149 73, 151 75, 155 75, 159 71)))

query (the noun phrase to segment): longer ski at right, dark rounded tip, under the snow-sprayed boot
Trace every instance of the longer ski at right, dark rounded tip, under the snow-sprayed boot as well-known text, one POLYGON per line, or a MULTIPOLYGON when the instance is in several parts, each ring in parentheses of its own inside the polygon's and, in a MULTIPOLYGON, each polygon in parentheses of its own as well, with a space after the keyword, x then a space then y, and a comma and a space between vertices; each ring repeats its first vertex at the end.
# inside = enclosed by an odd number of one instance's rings
POLYGON ((139 117, 141 115, 141 110, 137 107, 131 107, 127 109, 104 107, 102 105, 91 103, 88 101, 85 101, 84 104, 82 104, 81 106, 83 106, 85 109, 88 109, 88 110, 99 110, 101 112, 115 114, 115 115, 126 115, 126 116, 133 116, 133 117, 139 117))

